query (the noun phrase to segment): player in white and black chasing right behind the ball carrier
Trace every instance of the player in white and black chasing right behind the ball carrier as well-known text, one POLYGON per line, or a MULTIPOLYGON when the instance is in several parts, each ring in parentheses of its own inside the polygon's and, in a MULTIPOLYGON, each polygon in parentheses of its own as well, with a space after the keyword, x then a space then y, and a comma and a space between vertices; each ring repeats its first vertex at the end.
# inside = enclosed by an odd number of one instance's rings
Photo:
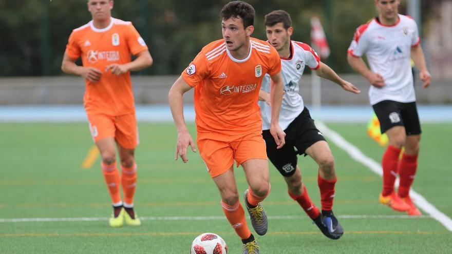
POLYGON ((279 123, 286 132, 286 145, 277 149, 269 132, 272 107, 269 100, 270 79, 266 75, 262 81, 259 106, 262 114, 262 135, 267 144, 268 158, 286 180, 289 196, 302 206, 325 236, 339 239, 344 230, 332 211, 336 183, 334 158, 322 133, 315 127, 309 110, 304 106, 303 98, 298 93, 298 82, 307 65, 315 70, 317 75, 335 82, 346 91, 360 93, 360 90, 341 79, 330 67, 322 63, 309 45, 290 40, 293 27, 289 13, 283 10, 270 12, 265 16, 265 26, 268 41, 276 48, 281 58, 285 94, 279 123), (309 155, 318 165, 317 180, 321 193, 322 213, 311 202, 306 186, 302 182, 302 174, 297 165, 297 153, 309 155))

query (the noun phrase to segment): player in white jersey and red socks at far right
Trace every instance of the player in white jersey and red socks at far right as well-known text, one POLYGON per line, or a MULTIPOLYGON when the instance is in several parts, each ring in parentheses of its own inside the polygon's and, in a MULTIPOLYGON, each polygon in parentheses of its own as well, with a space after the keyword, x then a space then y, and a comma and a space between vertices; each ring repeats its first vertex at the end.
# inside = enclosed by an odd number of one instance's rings
POLYGON ((382 159, 380 203, 417 216, 421 212, 412 203, 409 189, 418 165, 421 126, 410 57, 419 69, 423 88, 430 85, 430 73, 416 22, 399 14, 399 5, 399 0, 375 0, 378 16, 356 29, 347 60, 372 85, 370 104, 380 121, 381 132, 388 135, 389 145, 382 159), (364 54, 370 69, 361 58, 364 54), (405 150, 399 159, 402 147, 405 150), (400 177, 398 193, 394 192, 397 175, 400 177))

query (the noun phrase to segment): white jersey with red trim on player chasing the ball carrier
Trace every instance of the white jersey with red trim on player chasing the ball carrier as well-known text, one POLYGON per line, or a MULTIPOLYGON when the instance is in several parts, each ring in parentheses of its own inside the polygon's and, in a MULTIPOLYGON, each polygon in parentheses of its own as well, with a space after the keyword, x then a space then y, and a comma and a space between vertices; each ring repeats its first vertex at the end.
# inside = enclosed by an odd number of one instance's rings
MULTIPOLYGON (((291 41, 289 58, 281 57, 281 76, 283 76, 283 104, 279 112, 279 125, 286 129, 290 123, 303 111, 305 104, 299 92, 298 82, 302 78, 307 65, 311 69, 320 67, 320 57, 308 44, 291 41)), ((261 90, 270 93, 270 75, 262 80, 261 90)), ((266 102, 259 101, 262 115, 262 130, 270 129, 271 108, 266 102)))

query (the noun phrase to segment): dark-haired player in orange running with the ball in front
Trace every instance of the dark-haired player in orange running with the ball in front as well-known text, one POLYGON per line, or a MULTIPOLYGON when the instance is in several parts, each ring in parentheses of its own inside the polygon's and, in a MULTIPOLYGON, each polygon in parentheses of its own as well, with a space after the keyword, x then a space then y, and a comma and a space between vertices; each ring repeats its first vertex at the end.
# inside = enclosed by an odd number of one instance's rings
POLYGON ((271 87, 271 127, 278 147, 285 144, 279 127, 279 109, 283 98, 278 52, 267 42, 252 38, 254 9, 234 1, 221 12, 222 40, 205 46, 173 84, 169 101, 178 138, 176 157, 187 162, 187 147, 196 151, 186 129, 182 96, 195 88, 197 144, 201 158, 218 187, 223 212, 242 239, 243 253, 259 253, 254 236, 247 226, 239 202, 234 178, 234 160, 242 165, 249 188, 244 203, 258 235, 267 232, 267 216, 259 202, 270 191, 269 167, 265 142, 261 134, 261 116, 257 104, 263 76, 268 73, 271 87))

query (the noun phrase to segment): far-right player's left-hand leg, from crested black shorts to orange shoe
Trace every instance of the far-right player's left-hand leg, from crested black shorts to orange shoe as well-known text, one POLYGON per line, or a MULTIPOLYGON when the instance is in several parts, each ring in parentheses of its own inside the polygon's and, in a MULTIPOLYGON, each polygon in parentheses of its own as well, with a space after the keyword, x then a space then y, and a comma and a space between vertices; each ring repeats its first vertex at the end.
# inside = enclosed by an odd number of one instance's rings
POLYGON ((372 107, 380 121, 381 132, 388 135, 388 147, 382 158, 383 189, 379 200, 394 210, 406 211, 409 206, 394 192, 394 183, 399 173, 399 155, 406 139, 400 105, 398 102, 382 101, 372 107))

